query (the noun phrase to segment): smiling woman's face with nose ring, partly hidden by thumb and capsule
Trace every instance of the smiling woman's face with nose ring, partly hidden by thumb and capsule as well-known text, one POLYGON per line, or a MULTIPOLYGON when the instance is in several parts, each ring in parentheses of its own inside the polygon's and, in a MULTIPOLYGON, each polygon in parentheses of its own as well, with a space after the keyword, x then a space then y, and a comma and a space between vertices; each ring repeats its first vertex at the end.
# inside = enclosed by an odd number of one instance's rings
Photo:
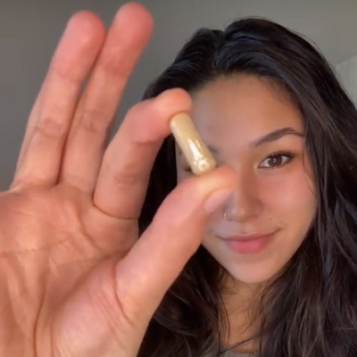
MULTIPOLYGON (((317 203, 303 121, 288 95, 253 77, 220 79, 193 94, 192 118, 237 190, 214 212, 203 245, 244 283, 281 270, 303 242, 317 203)), ((178 179, 192 175, 177 152, 178 179)))

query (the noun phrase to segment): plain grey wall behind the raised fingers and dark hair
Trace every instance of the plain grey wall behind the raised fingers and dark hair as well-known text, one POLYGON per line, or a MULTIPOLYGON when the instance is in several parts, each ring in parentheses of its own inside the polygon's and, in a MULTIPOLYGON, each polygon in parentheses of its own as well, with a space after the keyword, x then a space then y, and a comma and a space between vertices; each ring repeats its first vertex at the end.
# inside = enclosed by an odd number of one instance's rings
MULTIPOLYGON (((154 16, 154 36, 122 99, 117 124, 145 86, 195 29, 222 28, 242 16, 263 16, 307 35, 333 65, 357 54, 357 1, 353 0, 143 0, 154 16)), ((108 25, 125 1, 3 0, 0 4, 0 189, 7 188, 29 111, 73 12, 91 10, 108 25)))

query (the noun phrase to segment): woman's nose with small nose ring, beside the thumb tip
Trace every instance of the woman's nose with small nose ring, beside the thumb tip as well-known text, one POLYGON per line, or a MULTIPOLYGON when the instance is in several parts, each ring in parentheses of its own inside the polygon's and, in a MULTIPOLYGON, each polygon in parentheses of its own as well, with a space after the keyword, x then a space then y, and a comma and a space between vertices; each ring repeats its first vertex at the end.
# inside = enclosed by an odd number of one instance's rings
POLYGON ((237 172, 237 188, 224 207, 225 220, 245 221, 259 216, 262 202, 253 175, 237 172))

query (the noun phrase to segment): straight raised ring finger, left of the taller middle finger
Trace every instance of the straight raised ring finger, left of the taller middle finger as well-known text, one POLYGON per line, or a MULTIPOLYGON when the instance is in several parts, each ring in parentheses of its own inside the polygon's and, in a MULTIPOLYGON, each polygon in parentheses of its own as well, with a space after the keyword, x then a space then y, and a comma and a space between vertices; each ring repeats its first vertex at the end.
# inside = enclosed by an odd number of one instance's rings
POLYGON ((92 13, 71 18, 30 113, 12 187, 58 179, 79 90, 103 39, 103 23, 92 13))

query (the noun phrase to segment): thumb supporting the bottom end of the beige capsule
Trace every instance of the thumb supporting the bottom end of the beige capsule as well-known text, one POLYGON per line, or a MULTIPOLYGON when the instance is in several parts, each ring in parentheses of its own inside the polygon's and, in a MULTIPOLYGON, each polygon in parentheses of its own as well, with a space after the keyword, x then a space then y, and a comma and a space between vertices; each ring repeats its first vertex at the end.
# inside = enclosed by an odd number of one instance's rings
MULTIPOLYGON (((234 170, 220 167, 184 181, 162 203, 154 220, 116 268, 116 294, 138 349, 163 295, 201 244, 203 228, 213 211, 236 186, 234 170)), ((132 354, 136 356, 137 354, 132 354)), ((130 354, 131 357, 131 354, 130 354)))

